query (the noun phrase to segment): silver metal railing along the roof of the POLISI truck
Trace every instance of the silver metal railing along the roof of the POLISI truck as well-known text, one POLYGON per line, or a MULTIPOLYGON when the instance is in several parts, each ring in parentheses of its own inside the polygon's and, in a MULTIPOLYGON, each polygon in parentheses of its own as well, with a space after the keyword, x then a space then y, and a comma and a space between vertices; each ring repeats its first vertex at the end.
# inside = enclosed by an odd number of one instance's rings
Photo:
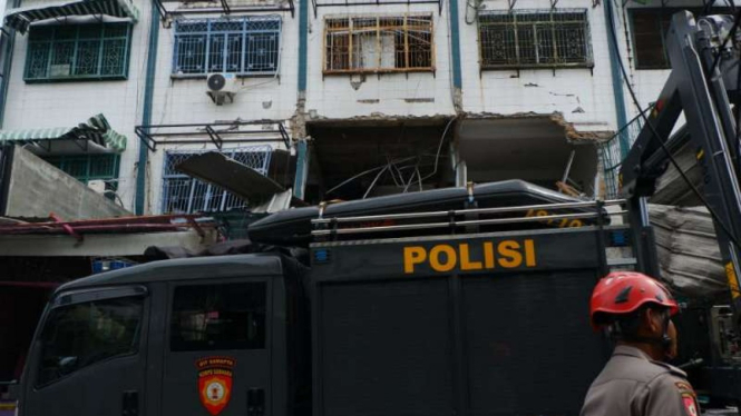
POLYGON ((621 199, 614 200, 597 200, 585 202, 565 202, 565 204, 542 204, 528 205, 518 207, 496 207, 496 208, 474 208, 460 210, 442 210, 442 211, 427 211, 427 212, 409 212, 409 214, 388 214, 374 216, 355 216, 355 217, 333 217, 333 218, 316 218, 312 219, 314 229, 311 231, 314 237, 335 236, 335 235, 353 235, 353 234, 370 234, 370 232, 389 232, 389 231, 410 231, 410 230, 430 230, 430 229, 451 229, 471 226, 491 226, 505 224, 527 224, 527 222, 545 222, 547 226, 564 228, 564 227, 579 227, 584 225, 583 220, 593 219, 598 226, 605 224, 606 216, 623 215, 627 211, 617 210, 613 212, 604 211, 606 206, 617 206, 625 202, 621 199), (553 214, 554 210, 565 209, 584 209, 582 212, 565 212, 553 214), (594 209, 594 211, 588 211, 594 209), (501 215, 513 212, 525 212, 524 216, 508 217, 508 218, 477 218, 469 219, 471 216, 478 215, 501 215), (460 219, 460 217, 465 217, 460 219), (439 219, 445 218, 445 221, 439 219), (401 224, 397 225, 393 221, 398 220, 423 220, 419 224, 401 224), (577 220, 578 222, 573 222, 577 220), (349 227, 341 228, 341 225, 352 225, 362 222, 374 222, 367 227, 349 227), (554 222, 556 221, 556 222, 554 222))

